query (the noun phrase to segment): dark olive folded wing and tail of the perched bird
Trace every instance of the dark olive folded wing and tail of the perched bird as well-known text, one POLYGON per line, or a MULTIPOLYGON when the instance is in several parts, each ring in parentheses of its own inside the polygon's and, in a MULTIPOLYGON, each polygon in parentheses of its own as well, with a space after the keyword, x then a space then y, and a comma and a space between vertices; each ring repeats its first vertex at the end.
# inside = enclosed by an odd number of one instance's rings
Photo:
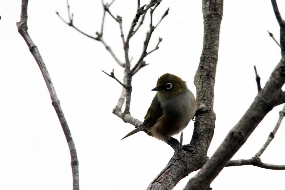
MULTIPOLYGON (((124 138, 127 138, 128 136, 131 136, 139 131, 142 131, 148 127, 153 126, 157 122, 157 120, 162 116, 162 114, 163 114, 162 108, 160 106, 156 93, 150 104, 150 107, 147 110, 146 115, 144 116, 143 124, 138 128, 136 128, 135 130, 129 132, 124 138)), ((123 140, 124 138, 122 138, 121 140, 123 140)))

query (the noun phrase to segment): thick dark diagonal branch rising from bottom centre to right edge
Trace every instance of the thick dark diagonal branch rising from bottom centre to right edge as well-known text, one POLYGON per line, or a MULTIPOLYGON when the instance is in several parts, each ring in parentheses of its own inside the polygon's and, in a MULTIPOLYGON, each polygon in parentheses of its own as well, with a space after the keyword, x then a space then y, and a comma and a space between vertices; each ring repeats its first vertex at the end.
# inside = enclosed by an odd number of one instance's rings
MULTIPOLYGON (((285 62, 282 58, 273 70, 264 88, 257 94, 250 108, 229 132, 213 156, 189 181, 185 189, 207 189, 231 157, 245 143, 253 130, 274 106, 281 103, 281 87, 285 83, 285 62)), ((265 167, 265 166, 264 166, 265 167)))

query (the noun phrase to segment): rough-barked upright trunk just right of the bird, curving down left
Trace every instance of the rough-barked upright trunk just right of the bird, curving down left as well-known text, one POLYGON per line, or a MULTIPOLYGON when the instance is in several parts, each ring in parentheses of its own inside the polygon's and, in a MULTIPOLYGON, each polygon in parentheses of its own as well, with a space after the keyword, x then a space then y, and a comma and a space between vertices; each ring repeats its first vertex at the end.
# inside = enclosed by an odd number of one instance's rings
POLYGON ((150 183, 148 189, 172 189, 189 173, 200 169, 207 161, 207 150, 213 137, 215 113, 213 90, 219 48, 219 30, 223 15, 223 1, 203 0, 204 42, 201 61, 194 84, 197 106, 207 110, 196 115, 194 133, 190 144, 176 151, 166 167, 150 183))

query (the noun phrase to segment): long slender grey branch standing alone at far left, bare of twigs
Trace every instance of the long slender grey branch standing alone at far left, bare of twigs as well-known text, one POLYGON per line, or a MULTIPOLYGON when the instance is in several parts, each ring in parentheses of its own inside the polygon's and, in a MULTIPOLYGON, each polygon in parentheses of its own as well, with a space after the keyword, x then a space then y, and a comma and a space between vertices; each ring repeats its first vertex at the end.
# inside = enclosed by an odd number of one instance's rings
POLYGON ((27 26, 27 7, 28 7, 28 0, 22 0, 22 9, 21 9, 21 20, 19 23, 17 23, 18 31, 25 40, 25 42, 28 45, 28 48, 30 49, 30 52, 34 56, 34 59, 36 60, 40 71, 42 72, 42 76, 44 77, 44 81, 46 82, 46 86, 48 87, 48 91, 50 93, 50 98, 52 99, 52 105, 54 106, 54 109, 56 111, 56 114, 58 116, 58 119, 60 121, 60 124, 62 126, 62 130, 64 132, 65 138, 68 143, 70 156, 71 156, 71 167, 72 167, 72 176, 73 176, 73 190, 79 190, 79 176, 78 176, 78 159, 76 154, 75 145, 68 127, 68 124, 66 122, 66 119, 64 117, 64 114, 62 112, 62 109, 60 107, 59 100, 56 96, 56 92, 54 89, 54 86, 52 84, 50 75, 48 73, 48 70, 46 69, 46 65, 44 64, 44 60, 42 59, 40 52, 38 51, 38 48, 33 43, 30 35, 28 34, 28 26, 27 26))

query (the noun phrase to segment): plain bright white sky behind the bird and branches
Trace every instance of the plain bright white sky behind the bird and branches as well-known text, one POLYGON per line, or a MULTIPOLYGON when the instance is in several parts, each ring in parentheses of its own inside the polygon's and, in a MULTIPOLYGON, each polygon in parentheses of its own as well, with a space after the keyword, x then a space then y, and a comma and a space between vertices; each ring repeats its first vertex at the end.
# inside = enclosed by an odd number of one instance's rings
MULTIPOLYGON (((137 1, 117 0, 110 7, 123 18, 125 35, 134 18, 137 1)), ((145 1, 147 3, 148 1, 145 1)), ((145 59, 150 65, 133 78, 131 114, 143 120, 155 95, 159 76, 176 74, 188 82, 196 94, 194 74, 203 42, 201 1, 164 0, 154 13, 156 23, 167 7, 169 14, 154 31, 148 50, 162 37, 159 50, 145 59)), ((141 5, 144 1, 141 2, 141 5)), ((285 18, 285 1, 277 1, 285 18)), ((70 0, 74 25, 93 35, 100 30, 101 1, 70 0)), ((100 42, 89 39, 65 23, 65 0, 36 1, 28 5, 28 32, 38 47, 50 73, 62 110, 74 139, 80 189, 146 189, 168 163, 173 149, 143 132, 123 141, 133 130, 113 115, 121 86, 101 70, 121 79, 121 68, 100 42)), ((21 1, 2 1, 0 7, 0 189, 72 189, 70 154, 62 128, 52 107, 40 70, 19 35, 21 1)), ((148 29, 145 25, 130 42, 130 57, 138 60, 148 29)), ((269 0, 224 2, 220 31, 219 60, 215 83, 216 128, 208 156, 239 121, 257 94, 253 65, 264 86, 280 60, 280 49, 266 30, 279 38, 279 26, 269 0)), ((119 26, 106 15, 104 39, 123 61, 119 26)), ((233 159, 251 158, 266 141, 282 106, 274 108, 260 123, 233 159)), ((184 130, 184 143, 190 142, 193 122, 184 130)), ((265 163, 284 162, 284 123, 264 151, 265 163)), ((176 136, 176 138, 178 138, 176 136)), ((178 183, 182 189, 195 174, 178 183)), ((282 189, 285 171, 237 166, 223 169, 213 181, 213 189, 282 189)))

